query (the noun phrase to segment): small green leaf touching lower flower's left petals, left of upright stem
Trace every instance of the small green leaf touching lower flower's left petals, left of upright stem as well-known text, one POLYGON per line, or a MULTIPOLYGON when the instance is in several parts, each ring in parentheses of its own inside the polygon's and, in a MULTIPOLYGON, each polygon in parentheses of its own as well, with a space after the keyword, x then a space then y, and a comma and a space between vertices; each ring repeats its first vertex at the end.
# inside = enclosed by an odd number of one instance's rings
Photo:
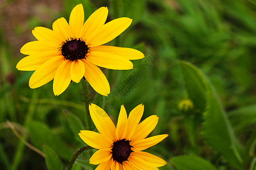
POLYGON ((65 112, 68 118, 69 125, 71 126, 71 129, 75 133, 75 135, 78 137, 78 133, 80 130, 84 130, 84 126, 82 125, 82 122, 79 120, 77 116, 75 116, 72 113, 65 112))

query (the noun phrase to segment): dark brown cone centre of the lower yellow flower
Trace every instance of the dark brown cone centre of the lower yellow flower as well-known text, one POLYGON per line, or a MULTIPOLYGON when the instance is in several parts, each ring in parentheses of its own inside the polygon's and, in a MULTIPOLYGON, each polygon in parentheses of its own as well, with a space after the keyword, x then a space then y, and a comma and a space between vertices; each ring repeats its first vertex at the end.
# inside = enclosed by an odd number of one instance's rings
POLYGON ((127 158, 130 156, 131 150, 130 141, 126 139, 122 139, 120 141, 114 142, 113 143, 113 148, 112 148, 112 157, 113 160, 116 160, 119 163, 123 163, 123 161, 127 160, 127 158))

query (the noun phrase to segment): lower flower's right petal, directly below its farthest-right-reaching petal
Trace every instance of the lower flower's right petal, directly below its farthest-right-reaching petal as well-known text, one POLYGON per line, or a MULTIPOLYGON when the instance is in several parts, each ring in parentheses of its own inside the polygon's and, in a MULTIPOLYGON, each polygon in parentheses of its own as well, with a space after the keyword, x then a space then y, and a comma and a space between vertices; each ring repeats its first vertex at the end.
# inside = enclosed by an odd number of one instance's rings
POLYGON ((152 155, 148 152, 132 152, 131 155, 137 156, 144 161, 154 165, 155 167, 162 167, 163 165, 166 165, 167 163, 162 158, 159 158, 158 156, 152 155))

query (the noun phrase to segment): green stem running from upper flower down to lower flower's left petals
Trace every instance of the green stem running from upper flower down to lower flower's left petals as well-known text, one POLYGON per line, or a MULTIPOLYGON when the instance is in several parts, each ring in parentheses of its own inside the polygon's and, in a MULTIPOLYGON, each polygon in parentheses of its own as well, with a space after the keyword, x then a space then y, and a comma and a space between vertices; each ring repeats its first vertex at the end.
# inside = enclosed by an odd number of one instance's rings
POLYGON ((89 95, 88 95, 88 91, 87 91, 87 84, 86 84, 86 80, 82 79, 82 91, 84 94, 84 102, 85 102, 85 122, 86 122, 86 130, 91 130, 92 128, 92 121, 90 118, 90 113, 89 113, 89 95))

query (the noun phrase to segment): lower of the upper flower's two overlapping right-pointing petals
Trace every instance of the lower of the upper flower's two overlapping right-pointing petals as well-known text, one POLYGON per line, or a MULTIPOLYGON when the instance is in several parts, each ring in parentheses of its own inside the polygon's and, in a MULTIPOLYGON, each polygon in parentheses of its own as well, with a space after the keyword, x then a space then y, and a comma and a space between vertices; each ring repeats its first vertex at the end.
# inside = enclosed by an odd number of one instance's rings
POLYGON ((129 70, 133 69, 133 63, 121 56, 105 52, 90 52, 86 59, 94 63, 94 65, 114 70, 129 70))

